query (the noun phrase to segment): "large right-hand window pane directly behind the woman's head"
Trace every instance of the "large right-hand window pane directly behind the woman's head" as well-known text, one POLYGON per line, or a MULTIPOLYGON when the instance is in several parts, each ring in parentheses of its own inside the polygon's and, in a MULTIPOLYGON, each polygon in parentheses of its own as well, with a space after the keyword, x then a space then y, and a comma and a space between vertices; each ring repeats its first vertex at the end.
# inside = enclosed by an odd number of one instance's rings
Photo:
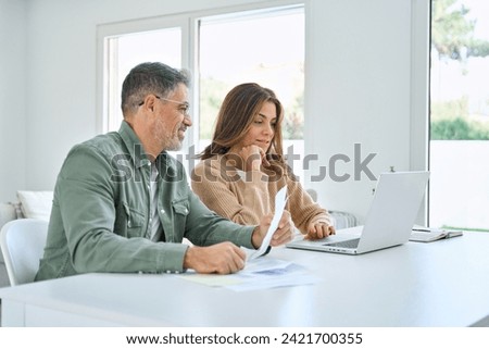
MULTIPOLYGON (((268 9, 200 21, 200 142, 209 145, 225 95, 236 85, 273 89, 285 108, 285 150, 303 159, 303 8, 268 9)), ((299 163, 299 161, 298 161, 299 163)), ((293 166, 300 176, 301 166, 293 166)))

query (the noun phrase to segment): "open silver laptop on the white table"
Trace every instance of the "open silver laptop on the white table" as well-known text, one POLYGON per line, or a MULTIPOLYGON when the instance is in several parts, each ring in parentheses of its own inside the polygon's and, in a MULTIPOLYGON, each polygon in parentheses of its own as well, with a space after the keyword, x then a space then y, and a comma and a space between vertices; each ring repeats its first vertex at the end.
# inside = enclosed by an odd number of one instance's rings
POLYGON ((319 240, 299 239, 288 248, 361 254, 408 242, 428 183, 429 172, 380 174, 363 226, 337 230, 319 240))

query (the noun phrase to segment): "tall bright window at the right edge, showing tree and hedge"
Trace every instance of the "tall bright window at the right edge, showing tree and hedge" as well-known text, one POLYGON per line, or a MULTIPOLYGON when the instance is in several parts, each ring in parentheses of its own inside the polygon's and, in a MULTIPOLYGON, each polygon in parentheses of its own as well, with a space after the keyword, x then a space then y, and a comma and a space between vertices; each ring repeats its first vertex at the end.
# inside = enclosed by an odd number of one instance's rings
POLYGON ((489 3, 431 11, 429 224, 489 230, 489 3))

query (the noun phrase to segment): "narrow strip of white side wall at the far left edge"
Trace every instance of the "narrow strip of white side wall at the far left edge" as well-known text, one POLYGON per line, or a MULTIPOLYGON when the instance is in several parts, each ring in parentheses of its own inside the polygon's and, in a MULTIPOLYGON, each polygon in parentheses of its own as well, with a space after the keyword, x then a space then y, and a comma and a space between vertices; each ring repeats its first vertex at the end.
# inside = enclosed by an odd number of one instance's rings
POLYGON ((0 0, 0 201, 26 185, 27 7, 0 0))

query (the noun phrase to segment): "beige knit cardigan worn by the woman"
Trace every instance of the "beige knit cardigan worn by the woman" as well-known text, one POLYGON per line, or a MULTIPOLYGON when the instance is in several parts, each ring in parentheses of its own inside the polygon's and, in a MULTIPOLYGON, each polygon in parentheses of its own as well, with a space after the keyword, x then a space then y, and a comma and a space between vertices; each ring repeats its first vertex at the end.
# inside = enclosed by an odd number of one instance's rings
POLYGON ((226 155, 201 161, 191 174, 193 191, 209 209, 238 224, 258 225, 263 215, 274 213, 275 195, 287 186, 286 210, 302 234, 312 222, 327 222, 329 214, 312 200, 298 180, 262 171, 237 170, 226 155), (269 175, 268 175, 268 174, 269 175))

